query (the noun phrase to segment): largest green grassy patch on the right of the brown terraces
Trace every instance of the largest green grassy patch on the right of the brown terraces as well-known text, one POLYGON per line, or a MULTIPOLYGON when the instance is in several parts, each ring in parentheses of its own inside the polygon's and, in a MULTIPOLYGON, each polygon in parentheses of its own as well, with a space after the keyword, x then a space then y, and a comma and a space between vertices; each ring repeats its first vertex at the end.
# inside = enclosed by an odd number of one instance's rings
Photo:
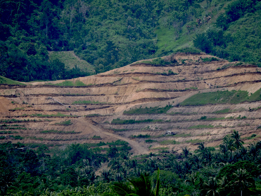
MULTIPOLYGON (((247 91, 216 91, 208 93, 197 93, 184 100, 180 105, 206 105, 217 103, 237 104, 248 97, 247 91)), ((261 98, 260 98, 261 99, 261 98)))

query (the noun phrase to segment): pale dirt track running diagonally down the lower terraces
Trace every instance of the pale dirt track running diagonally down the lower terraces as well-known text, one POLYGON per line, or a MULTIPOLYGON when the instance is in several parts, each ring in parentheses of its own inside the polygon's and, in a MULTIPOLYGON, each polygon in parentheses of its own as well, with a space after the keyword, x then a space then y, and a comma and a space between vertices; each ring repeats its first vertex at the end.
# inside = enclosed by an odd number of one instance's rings
POLYGON ((105 132, 104 130, 100 129, 99 127, 93 125, 91 123, 91 121, 86 121, 85 118, 80 118, 79 121, 81 121, 82 124, 85 124, 86 126, 90 127, 92 130, 94 130, 95 132, 97 132, 99 134, 105 134, 105 135, 108 135, 110 137, 114 137, 114 138, 128 142, 129 145, 131 146, 131 148, 134 151, 133 156, 138 155, 138 154, 149 154, 149 152, 145 148, 143 148, 138 142, 136 142, 134 140, 124 138, 124 137, 116 135, 116 134, 105 132))

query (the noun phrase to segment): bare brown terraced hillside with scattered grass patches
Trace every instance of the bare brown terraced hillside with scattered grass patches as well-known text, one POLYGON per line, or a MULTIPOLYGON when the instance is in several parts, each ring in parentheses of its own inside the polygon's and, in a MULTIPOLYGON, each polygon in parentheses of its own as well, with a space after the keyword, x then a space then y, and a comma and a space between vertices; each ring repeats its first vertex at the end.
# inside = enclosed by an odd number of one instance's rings
POLYGON ((144 154, 217 146, 232 130, 259 141, 260 71, 178 53, 66 81, 0 84, 0 142, 120 139, 144 154))

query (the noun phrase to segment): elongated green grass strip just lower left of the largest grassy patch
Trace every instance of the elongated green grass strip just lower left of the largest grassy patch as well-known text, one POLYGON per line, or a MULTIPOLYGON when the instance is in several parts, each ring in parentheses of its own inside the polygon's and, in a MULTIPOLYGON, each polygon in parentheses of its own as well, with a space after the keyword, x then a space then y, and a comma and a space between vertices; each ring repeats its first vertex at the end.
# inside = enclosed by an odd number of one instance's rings
POLYGON ((165 107, 145 107, 145 108, 136 108, 124 111, 123 114, 162 114, 166 113, 172 106, 166 105, 165 107))

